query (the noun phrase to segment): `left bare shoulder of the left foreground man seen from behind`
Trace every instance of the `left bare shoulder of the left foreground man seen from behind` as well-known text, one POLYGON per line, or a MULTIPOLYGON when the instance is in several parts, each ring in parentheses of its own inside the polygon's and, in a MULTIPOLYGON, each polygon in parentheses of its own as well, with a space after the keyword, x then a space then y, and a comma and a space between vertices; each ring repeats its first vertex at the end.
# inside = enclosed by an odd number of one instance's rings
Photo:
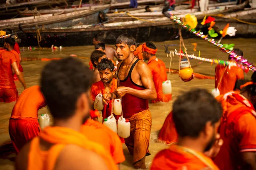
POLYGON ((17 155, 15 162, 16 170, 26 170, 28 165, 28 155, 31 142, 25 144, 17 155))

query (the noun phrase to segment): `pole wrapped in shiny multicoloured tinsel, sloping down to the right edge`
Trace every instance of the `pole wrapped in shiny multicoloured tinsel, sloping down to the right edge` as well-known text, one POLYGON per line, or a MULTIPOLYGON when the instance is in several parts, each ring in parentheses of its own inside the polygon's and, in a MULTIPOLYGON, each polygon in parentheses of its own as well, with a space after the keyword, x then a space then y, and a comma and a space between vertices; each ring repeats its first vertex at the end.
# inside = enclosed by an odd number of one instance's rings
POLYGON ((201 37, 204 40, 207 40, 208 42, 212 43, 213 45, 219 47, 220 51, 223 51, 223 52, 229 54, 232 59, 236 60, 236 62, 239 62, 239 63, 245 65, 247 68, 250 68, 250 70, 256 71, 256 66, 254 66, 253 63, 249 63, 247 61, 247 59, 243 58, 243 56, 238 56, 233 51, 230 51, 227 48, 224 48, 221 43, 218 43, 217 41, 215 41, 214 38, 204 35, 204 33, 202 31, 196 31, 195 29, 190 28, 189 26, 187 26, 185 23, 183 23, 181 21, 180 17, 177 17, 174 14, 170 14, 170 15, 171 16, 169 18, 171 20, 175 21, 175 23, 182 26, 182 28, 186 29, 187 31, 191 32, 192 34, 195 34, 198 37, 201 37))

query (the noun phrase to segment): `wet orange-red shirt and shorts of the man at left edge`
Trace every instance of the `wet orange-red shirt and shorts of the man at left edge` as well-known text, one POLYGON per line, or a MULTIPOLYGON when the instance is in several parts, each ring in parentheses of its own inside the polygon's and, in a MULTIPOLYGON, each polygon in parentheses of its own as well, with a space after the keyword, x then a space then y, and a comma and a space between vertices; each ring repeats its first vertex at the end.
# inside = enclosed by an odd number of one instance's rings
POLYGON ((0 48, 0 102, 15 102, 18 92, 12 76, 14 54, 0 48))

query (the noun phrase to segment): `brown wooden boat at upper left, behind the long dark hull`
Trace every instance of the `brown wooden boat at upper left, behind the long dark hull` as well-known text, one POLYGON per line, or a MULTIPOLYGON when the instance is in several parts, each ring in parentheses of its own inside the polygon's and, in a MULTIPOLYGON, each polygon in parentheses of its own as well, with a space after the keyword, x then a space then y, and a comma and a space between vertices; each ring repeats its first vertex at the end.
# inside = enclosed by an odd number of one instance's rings
POLYGON ((57 28, 63 26, 76 26, 83 24, 98 23, 99 11, 108 12, 108 8, 97 8, 95 10, 76 11, 67 14, 54 16, 35 16, 23 17, 10 20, 0 20, 1 29, 18 29, 20 23, 23 24, 23 29, 38 29, 38 28, 57 28))

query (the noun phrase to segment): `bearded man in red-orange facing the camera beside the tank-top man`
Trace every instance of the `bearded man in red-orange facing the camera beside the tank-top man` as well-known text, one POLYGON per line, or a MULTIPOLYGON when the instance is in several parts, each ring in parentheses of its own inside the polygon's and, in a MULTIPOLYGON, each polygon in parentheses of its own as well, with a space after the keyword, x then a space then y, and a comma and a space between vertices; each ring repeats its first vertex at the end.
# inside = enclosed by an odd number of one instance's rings
MULTIPOLYGON (((91 87, 91 99, 93 102, 98 94, 110 94, 116 90, 117 80, 114 78, 116 74, 115 66, 110 59, 103 58, 97 65, 99 71, 100 81, 93 83, 91 87)), ((110 101, 106 102, 102 111, 103 120, 108 118, 112 112, 112 104, 110 101)), ((94 119, 94 118, 93 118, 94 119)))

